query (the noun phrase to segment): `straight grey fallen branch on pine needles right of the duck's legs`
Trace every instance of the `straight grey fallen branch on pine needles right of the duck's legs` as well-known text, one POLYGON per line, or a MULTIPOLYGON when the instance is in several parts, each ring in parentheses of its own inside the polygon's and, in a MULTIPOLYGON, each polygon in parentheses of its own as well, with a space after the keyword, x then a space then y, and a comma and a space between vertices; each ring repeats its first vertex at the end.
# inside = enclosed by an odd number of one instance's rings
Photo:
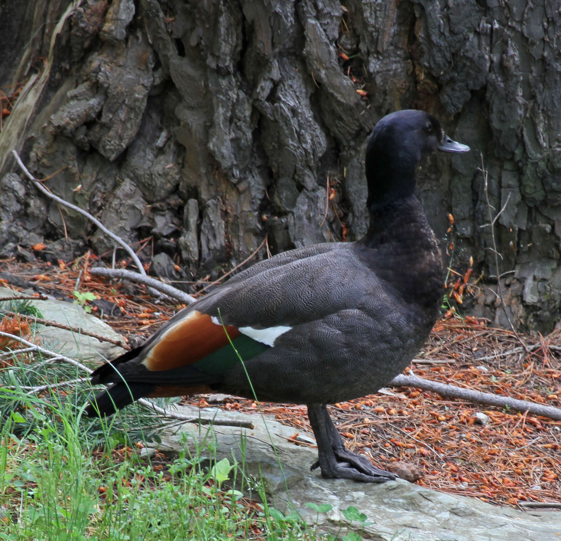
POLYGON ((514 411, 529 411, 532 415, 541 415, 549 419, 561 420, 561 409, 553 406, 542 406, 526 400, 518 400, 509 396, 492 395, 489 392, 473 391, 472 389, 463 389, 456 385, 448 383, 439 383, 438 381, 425 380, 417 376, 404 376, 399 374, 389 382, 388 385, 394 387, 417 387, 425 391, 438 392, 440 396, 448 396, 474 402, 476 404, 489 404, 498 406, 499 408, 508 408, 514 411))

